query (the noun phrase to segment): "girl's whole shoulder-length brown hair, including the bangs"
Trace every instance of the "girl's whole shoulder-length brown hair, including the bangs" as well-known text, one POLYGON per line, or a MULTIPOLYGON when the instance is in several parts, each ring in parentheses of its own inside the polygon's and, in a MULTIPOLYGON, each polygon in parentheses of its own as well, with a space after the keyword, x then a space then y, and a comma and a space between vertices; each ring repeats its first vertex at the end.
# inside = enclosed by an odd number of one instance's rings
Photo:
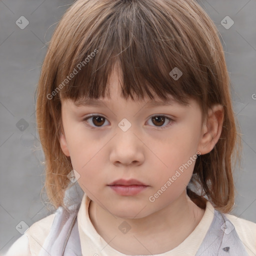
POLYGON ((224 107, 222 132, 214 148, 197 157, 188 196, 203 207, 207 197, 227 213, 234 204, 231 155, 241 143, 232 110, 229 76, 218 31, 192 0, 77 0, 62 16, 46 53, 37 87, 36 116, 45 155, 45 188, 63 206, 70 182, 70 157, 59 144, 61 100, 104 97, 114 64, 122 70, 122 96, 194 98, 203 119, 213 104, 224 107), (169 72, 182 75, 174 80, 169 72), (73 74, 73 75, 71 75, 73 74), (151 93, 153 92, 153 93, 151 93), (237 142, 237 143, 236 143, 237 142))

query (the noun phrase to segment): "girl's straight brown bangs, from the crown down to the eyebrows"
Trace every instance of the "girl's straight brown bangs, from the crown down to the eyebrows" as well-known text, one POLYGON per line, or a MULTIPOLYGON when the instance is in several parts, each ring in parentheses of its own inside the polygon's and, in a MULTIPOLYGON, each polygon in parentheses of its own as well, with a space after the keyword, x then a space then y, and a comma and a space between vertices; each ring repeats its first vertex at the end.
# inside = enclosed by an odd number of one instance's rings
MULTIPOLYGON (((79 31, 84 34, 81 39, 70 42, 73 46, 62 55, 62 68, 56 76, 57 84, 67 83, 61 86, 61 99, 77 102, 83 98, 104 97, 116 64, 121 71, 121 96, 126 99, 143 99, 146 95, 150 99, 166 100, 171 95, 186 105, 189 97, 202 94, 194 83, 201 77, 196 77, 196 67, 189 63, 191 58, 180 46, 182 40, 188 39, 181 39, 174 24, 172 30, 160 27, 159 17, 155 13, 146 15, 143 4, 135 2, 137 8, 131 8, 131 4, 118 11, 114 11, 117 4, 114 5, 90 31, 79 31), (180 77, 175 79, 177 76, 180 77)), ((107 96, 110 97, 109 90, 107 96)))

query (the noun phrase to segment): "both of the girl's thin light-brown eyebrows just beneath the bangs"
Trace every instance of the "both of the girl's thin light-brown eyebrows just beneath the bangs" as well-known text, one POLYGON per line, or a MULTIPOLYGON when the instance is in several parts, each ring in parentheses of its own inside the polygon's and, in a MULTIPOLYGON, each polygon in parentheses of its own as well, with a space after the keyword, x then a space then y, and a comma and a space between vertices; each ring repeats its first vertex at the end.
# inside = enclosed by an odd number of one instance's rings
MULTIPOLYGON (((150 100, 148 103, 145 104, 145 108, 147 107, 152 107, 152 106, 162 106, 162 105, 173 105, 173 103, 178 103, 174 99, 167 99, 167 100, 162 100, 162 101, 157 101, 157 100, 150 100)), ((106 102, 99 100, 99 99, 81 99, 77 100, 74 102, 76 106, 102 106, 107 104, 106 102)), ((184 103, 179 103, 186 105, 184 103)))

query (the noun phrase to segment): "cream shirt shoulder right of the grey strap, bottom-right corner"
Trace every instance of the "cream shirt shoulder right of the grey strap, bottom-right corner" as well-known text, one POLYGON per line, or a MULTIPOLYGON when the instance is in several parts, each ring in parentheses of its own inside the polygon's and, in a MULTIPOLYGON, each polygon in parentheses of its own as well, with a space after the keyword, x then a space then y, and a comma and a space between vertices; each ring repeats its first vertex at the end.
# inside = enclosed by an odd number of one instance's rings
POLYGON ((233 224, 248 254, 256 255, 256 223, 231 214, 225 216, 233 224))

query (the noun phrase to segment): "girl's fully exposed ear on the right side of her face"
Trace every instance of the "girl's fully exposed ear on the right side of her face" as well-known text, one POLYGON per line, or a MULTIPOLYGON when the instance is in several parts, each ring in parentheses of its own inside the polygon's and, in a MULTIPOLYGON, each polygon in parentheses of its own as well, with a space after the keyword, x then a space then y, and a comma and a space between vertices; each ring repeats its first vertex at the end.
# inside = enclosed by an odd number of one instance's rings
POLYGON ((203 122, 201 137, 197 150, 206 154, 212 150, 217 143, 224 120, 224 109, 220 104, 215 104, 208 109, 207 119, 203 122))

